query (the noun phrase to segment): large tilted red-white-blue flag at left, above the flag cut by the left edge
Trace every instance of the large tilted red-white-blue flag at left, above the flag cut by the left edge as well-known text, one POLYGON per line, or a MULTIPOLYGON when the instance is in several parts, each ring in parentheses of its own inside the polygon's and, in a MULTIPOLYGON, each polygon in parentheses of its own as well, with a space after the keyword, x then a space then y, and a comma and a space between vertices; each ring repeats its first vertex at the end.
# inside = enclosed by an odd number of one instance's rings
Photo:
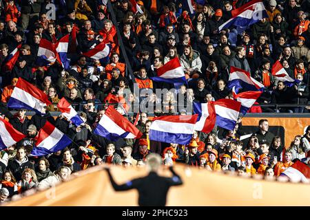
POLYGON ((43 91, 20 77, 8 101, 9 108, 29 109, 37 113, 43 113, 43 108, 49 104, 52 103, 43 91))

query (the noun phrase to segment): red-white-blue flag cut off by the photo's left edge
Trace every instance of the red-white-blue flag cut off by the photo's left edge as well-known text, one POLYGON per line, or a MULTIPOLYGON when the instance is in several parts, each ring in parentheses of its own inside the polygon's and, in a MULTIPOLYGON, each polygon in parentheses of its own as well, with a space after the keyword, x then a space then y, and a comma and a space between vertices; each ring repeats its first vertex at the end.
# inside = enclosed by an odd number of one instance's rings
POLYGON ((25 135, 13 128, 12 124, 0 117, 0 150, 16 144, 25 138, 25 135))

